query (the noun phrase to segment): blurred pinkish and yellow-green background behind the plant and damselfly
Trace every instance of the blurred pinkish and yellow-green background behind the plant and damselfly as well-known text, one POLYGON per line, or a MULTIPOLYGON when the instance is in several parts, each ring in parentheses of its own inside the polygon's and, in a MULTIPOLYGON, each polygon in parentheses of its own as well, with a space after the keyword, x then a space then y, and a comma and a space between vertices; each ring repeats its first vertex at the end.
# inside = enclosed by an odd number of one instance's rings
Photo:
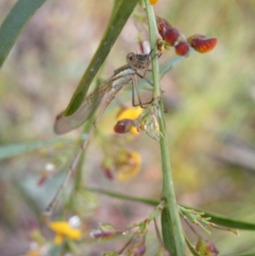
MULTIPOLYGON (((1 23, 14 3, 0 2, 1 23)), ((54 0, 38 9, 14 44, 0 74, 1 145, 59 138, 53 133, 54 117, 69 103, 92 59, 110 19, 111 7, 110 1, 103 0, 54 0)), ((218 38, 212 52, 192 54, 161 82, 178 202, 254 222, 255 4, 252 0, 160 0, 155 11, 187 37, 199 33, 218 38)), ((117 67, 125 64, 128 52, 139 52, 137 34, 134 20, 129 19, 99 78, 111 77, 117 67)), ((173 49, 165 51, 160 62, 173 55, 173 49)), ((106 134, 112 133, 117 111, 116 107, 110 109, 115 113, 108 111, 110 116, 106 113, 99 124, 106 134)), ((48 162, 56 165, 56 172, 65 174, 73 151, 77 150, 72 139, 78 134, 79 131, 74 131, 63 136, 71 139, 65 146, 43 147, 1 161, 0 255, 27 251, 31 226, 40 226, 40 213, 63 177, 55 175, 42 186, 37 185, 37 180, 48 162)), ((143 157, 141 172, 122 182, 108 180, 100 170, 100 145, 97 139, 92 139, 83 174, 85 183, 158 198, 158 143, 141 133, 127 147, 143 157)), ((99 207, 89 228, 96 228, 98 222, 124 227, 144 219, 151 211, 152 208, 138 203, 99 196, 99 207)), ((188 230, 185 225, 184 229, 188 230)), ((48 230, 42 232, 52 236, 48 230)), ((205 237, 218 247, 220 255, 254 249, 254 234, 240 234, 216 230, 205 237)), ((195 242, 195 237, 191 240, 195 242)), ((114 242, 104 246, 117 248, 114 242)), ((93 243, 86 247, 86 255, 99 255, 99 251, 93 243)))

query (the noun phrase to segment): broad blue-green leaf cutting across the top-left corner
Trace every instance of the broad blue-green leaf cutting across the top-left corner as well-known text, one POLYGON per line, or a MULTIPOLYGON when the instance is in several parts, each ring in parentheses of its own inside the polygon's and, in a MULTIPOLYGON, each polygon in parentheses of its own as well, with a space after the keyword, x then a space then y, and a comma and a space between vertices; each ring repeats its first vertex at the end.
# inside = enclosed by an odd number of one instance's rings
POLYGON ((0 67, 7 58, 20 32, 31 19, 32 15, 42 6, 46 0, 20 0, 0 27, 0 67))

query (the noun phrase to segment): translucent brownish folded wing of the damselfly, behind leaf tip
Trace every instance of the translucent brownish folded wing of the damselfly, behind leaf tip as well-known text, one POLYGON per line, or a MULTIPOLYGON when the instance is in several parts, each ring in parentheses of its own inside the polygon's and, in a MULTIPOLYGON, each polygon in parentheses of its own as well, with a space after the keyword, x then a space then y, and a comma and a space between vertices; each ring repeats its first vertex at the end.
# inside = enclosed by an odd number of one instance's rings
POLYGON ((102 82, 99 88, 88 94, 82 105, 71 116, 65 117, 65 111, 61 112, 55 119, 54 132, 56 134, 66 134, 86 122, 97 110, 105 94, 111 90, 112 78, 102 82))

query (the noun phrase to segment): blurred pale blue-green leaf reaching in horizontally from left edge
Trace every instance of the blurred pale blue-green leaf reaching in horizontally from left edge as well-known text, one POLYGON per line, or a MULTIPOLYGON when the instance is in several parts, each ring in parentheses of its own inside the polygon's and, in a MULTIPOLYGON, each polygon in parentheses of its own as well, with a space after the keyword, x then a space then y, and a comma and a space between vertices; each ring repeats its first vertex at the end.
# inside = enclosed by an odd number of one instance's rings
POLYGON ((56 145, 58 143, 67 143, 70 141, 70 139, 52 139, 46 141, 36 141, 26 144, 0 146, 0 159, 18 156, 20 154, 25 154, 30 151, 35 151, 44 148, 45 146, 56 145))

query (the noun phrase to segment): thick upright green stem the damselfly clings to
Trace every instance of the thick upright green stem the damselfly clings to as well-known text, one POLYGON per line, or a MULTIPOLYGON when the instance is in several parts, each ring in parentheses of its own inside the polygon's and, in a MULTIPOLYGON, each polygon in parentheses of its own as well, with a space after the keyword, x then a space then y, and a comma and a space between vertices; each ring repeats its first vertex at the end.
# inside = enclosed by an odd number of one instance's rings
MULTIPOLYGON (((153 54, 156 55, 156 40, 158 36, 158 31, 156 27, 156 18, 154 10, 149 3, 149 0, 145 0, 146 13, 149 23, 149 32, 150 32, 150 47, 153 49, 153 54)), ((153 55, 152 55, 153 57, 153 55)), ((153 76, 153 96, 154 99, 157 99, 161 96, 161 87, 160 87, 160 70, 158 65, 158 58, 152 58, 152 76, 153 76)), ((161 191, 161 196, 167 201, 167 206, 165 208, 165 213, 167 213, 167 225, 168 232, 171 232, 171 237, 173 241, 166 241, 164 238, 164 244, 168 250, 170 250, 171 255, 173 256, 184 256, 185 255, 185 246, 184 246, 184 235, 182 231, 182 226, 180 218, 178 215, 178 204, 176 202, 174 188, 173 188, 173 178, 171 173, 170 166, 170 157, 167 144, 167 134, 165 128, 165 119, 164 119, 164 106, 162 100, 160 100, 160 111, 159 111, 159 122, 160 122, 160 146, 161 146, 161 164, 162 164, 162 173, 163 173, 163 187, 161 191), (171 244, 171 246, 169 246, 171 244)), ((162 223, 162 225, 166 225, 162 223)), ((166 227, 164 227, 166 228, 166 227)), ((163 234, 164 235, 164 234, 163 234)))

